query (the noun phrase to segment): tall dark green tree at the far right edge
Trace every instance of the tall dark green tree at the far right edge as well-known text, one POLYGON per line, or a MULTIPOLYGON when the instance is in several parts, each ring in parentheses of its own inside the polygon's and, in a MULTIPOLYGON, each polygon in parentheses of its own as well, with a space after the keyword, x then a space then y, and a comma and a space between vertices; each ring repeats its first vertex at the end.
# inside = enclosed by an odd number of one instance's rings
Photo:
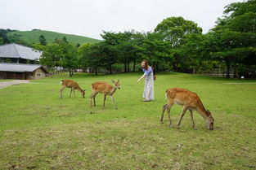
POLYGON ((230 77, 231 65, 236 75, 237 63, 256 64, 256 1, 231 3, 223 13, 209 37, 214 47, 213 58, 226 63, 227 77, 230 77))

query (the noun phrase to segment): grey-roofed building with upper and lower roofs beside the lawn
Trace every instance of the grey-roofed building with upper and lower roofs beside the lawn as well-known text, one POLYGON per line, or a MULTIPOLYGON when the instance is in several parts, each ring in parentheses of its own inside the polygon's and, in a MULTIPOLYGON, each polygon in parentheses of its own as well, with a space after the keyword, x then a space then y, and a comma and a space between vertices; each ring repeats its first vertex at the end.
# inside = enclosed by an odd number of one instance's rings
POLYGON ((0 79, 39 79, 47 76, 43 66, 35 64, 42 55, 28 46, 0 46, 0 79))

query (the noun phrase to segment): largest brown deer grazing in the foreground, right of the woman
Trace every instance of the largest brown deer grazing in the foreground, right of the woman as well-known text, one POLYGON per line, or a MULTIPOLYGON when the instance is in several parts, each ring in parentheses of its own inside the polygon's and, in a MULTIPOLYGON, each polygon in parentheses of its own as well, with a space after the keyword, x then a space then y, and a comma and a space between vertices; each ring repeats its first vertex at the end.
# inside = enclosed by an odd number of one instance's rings
POLYGON ((213 130, 213 116, 210 111, 206 111, 204 108, 203 103, 201 102, 200 98, 197 96, 197 94, 181 88, 173 88, 173 89, 167 89, 165 93, 165 97, 168 98, 168 103, 164 105, 162 116, 161 116, 161 122, 163 124, 163 118, 164 118, 164 111, 167 110, 168 112, 168 120, 170 121, 170 127, 172 127, 172 121, 170 119, 170 110, 173 107, 173 104, 182 105, 182 116, 177 124, 177 127, 181 124, 182 117, 185 115, 186 111, 188 110, 190 112, 191 121, 192 121, 192 127, 195 129, 195 122, 193 120, 193 112, 197 111, 200 113, 200 115, 204 118, 206 121, 209 130, 213 130))

